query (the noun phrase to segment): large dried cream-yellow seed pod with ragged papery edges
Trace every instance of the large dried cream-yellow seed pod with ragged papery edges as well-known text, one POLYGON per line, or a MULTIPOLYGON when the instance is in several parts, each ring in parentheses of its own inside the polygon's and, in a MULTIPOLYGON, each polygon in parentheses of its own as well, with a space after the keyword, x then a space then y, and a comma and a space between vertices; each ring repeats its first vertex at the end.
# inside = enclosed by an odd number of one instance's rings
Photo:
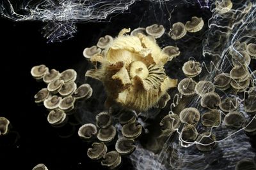
POLYGON ((154 38, 139 33, 126 35, 123 29, 108 45, 107 52, 90 59, 100 68, 88 70, 85 76, 102 81, 107 92, 106 106, 113 103, 136 111, 146 111, 157 105, 166 91, 177 86, 164 73, 169 56, 154 38))

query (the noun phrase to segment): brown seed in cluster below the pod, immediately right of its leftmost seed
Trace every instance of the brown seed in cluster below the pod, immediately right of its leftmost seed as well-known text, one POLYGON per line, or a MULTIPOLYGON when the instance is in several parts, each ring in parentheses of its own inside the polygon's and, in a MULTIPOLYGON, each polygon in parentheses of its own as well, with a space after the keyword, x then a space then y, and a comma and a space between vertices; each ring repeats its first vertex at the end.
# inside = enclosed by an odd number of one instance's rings
POLYGON ((97 138, 103 142, 112 141, 116 136, 116 128, 110 125, 106 129, 101 128, 97 134, 97 138))

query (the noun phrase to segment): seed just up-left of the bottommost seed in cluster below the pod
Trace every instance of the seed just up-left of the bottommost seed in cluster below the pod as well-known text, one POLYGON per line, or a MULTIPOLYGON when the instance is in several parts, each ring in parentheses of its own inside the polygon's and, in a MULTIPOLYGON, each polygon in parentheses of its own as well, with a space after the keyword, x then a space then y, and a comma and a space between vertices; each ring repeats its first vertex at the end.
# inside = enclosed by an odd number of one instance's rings
POLYGON ((99 160, 107 153, 107 146, 103 143, 93 143, 92 148, 88 148, 87 155, 90 159, 99 160))

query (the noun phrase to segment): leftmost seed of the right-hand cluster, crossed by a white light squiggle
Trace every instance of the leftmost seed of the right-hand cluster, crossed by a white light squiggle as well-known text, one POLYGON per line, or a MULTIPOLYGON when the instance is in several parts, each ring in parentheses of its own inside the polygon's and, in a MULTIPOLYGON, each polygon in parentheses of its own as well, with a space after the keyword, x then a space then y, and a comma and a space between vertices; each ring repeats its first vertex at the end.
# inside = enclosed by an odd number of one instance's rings
POLYGON ((176 129, 180 126, 180 118, 177 114, 168 114, 165 117, 162 118, 159 125, 161 126, 161 129, 164 130, 170 130, 170 131, 176 131, 176 129))

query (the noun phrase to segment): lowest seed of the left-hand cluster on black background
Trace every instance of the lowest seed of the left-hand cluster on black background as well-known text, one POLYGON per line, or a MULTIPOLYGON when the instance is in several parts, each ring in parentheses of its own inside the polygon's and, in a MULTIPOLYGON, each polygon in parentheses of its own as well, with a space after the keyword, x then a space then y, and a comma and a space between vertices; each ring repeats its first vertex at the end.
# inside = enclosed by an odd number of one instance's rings
POLYGON ((60 125, 65 122, 66 118, 67 115, 63 110, 55 109, 50 111, 49 115, 47 116, 47 121, 51 125, 60 125))

